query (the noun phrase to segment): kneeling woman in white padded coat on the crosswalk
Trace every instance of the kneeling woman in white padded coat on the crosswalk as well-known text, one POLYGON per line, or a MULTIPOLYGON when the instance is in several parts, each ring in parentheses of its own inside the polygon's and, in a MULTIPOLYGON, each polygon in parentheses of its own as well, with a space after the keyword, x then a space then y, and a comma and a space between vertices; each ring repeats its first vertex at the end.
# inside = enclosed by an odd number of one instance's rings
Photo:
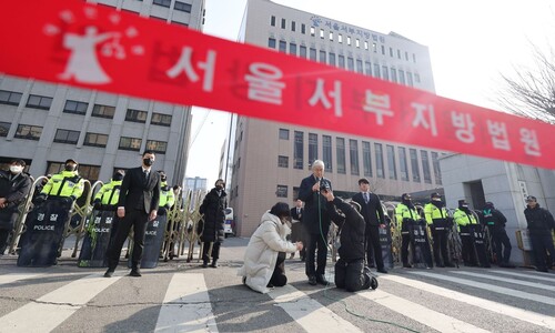
POLYGON ((278 202, 262 215, 256 231, 251 236, 244 252, 244 264, 238 274, 243 283, 254 291, 268 293, 269 287, 287 283, 284 274, 285 253, 303 249, 302 242, 291 243, 285 236, 291 233, 287 220, 291 218, 289 205, 278 202))

